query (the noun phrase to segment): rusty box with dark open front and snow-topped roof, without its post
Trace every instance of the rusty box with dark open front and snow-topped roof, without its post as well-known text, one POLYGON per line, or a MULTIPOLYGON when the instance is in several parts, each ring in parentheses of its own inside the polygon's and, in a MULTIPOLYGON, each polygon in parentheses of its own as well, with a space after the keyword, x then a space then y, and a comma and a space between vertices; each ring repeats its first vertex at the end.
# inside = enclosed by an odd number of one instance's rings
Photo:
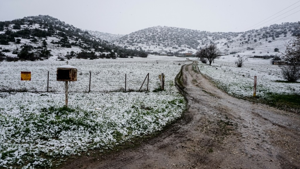
POLYGON ((77 68, 71 65, 57 67, 57 81, 77 81, 77 68))

